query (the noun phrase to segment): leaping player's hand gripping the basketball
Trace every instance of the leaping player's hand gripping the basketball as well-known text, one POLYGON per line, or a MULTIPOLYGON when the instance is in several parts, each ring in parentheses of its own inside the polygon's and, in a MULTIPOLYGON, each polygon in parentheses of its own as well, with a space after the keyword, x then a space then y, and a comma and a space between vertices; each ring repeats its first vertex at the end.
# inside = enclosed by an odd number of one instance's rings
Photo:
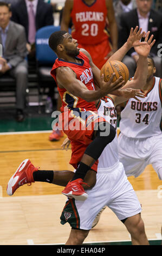
POLYGON ((102 96, 106 96, 107 94, 114 92, 114 90, 117 90, 124 86, 125 81, 123 80, 122 76, 120 76, 115 82, 112 82, 114 76, 115 73, 112 74, 108 82, 105 82, 103 74, 101 75, 100 90, 102 96))

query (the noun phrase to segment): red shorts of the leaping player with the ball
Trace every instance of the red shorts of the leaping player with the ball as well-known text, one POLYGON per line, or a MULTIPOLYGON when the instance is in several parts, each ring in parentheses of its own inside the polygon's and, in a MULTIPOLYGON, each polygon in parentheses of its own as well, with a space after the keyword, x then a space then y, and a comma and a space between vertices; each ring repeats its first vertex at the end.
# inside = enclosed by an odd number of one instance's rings
MULTIPOLYGON (((88 145, 93 141, 93 133, 98 123, 105 121, 98 113, 92 111, 73 111, 67 109, 59 116, 60 129, 68 136, 72 144, 72 157, 70 164, 77 169, 88 145)), ((97 171, 98 160, 93 164, 91 169, 97 171)))

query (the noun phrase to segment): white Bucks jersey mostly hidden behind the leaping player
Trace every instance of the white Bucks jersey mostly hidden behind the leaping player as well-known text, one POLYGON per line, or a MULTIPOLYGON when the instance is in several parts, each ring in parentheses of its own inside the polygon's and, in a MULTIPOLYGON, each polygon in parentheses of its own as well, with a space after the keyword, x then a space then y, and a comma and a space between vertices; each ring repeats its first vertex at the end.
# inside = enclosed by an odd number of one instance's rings
MULTIPOLYGON (((114 103, 111 97, 104 97, 98 103, 98 114, 105 118, 108 123, 117 128, 117 115, 114 107, 114 103)), ((109 143, 103 150, 99 157, 98 168, 109 168, 112 167, 116 162, 119 161, 118 157, 118 136, 116 133, 115 138, 109 143)))

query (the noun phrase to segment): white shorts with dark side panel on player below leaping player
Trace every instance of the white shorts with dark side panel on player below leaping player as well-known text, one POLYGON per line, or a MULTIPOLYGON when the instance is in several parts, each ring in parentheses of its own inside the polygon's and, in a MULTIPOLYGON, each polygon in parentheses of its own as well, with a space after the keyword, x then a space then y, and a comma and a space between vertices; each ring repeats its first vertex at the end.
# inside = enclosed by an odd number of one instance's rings
POLYGON ((119 220, 141 212, 141 205, 127 180, 122 163, 113 168, 98 169, 96 185, 87 190, 84 202, 69 199, 61 215, 61 224, 68 222, 72 228, 90 230, 99 211, 107 205, 119 220))

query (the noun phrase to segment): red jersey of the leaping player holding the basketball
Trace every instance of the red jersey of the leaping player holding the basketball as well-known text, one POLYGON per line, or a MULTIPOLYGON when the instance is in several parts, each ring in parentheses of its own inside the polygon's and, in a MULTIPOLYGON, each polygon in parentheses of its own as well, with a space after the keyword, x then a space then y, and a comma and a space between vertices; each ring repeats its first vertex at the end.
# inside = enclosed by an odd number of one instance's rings
MULTIPOLYGON (((68 66, 70 69, 72 69, 75 72, 76 78, 80 80, 82 83, 84 83, 88 90, 95 90, 92 68, 90 67, 88 57, 84 53, 80 52, 76 58, 81 59, 82 63, 66 62, 63 59, 57 58, 50 72, 51 76, 53 76, 54 80, 56 81, 56 69, 59 68, 60 66, 68 66)), ((57 88, 61 96, 62 112, 64 107, 68 107, 69 109, 76 109, 76 110, 77 108, 80 108, 80 111, 85 111, 85 110, 97 111, 95 107, 95 101, 87 102, 81 99, 80 97, 76 97, 70 94, 66 89, 59 88, 58 84, 57 84, 57 88)))

